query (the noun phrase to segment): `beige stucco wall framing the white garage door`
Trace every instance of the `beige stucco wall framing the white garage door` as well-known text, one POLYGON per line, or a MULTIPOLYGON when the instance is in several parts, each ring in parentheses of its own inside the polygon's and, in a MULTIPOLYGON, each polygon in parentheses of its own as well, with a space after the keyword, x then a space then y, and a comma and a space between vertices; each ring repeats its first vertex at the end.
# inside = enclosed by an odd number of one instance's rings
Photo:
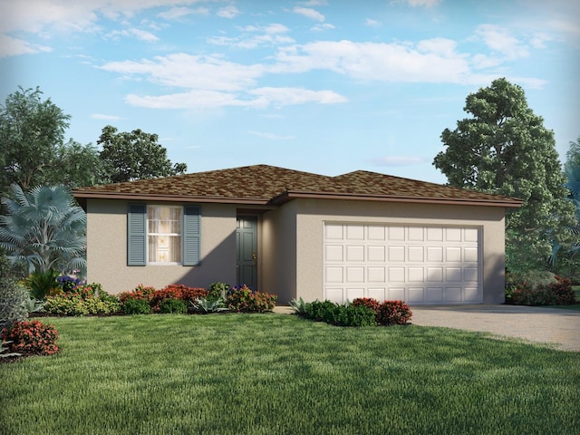
POLYGON ((296 269, 294 297, 305 301, 323 298, 324 223, 404 224, 480 227, 483 303, 504 301, 504 209, 497 207, 443 206, 297 199, 295 208, 282 209, 295 217, 296 269))

